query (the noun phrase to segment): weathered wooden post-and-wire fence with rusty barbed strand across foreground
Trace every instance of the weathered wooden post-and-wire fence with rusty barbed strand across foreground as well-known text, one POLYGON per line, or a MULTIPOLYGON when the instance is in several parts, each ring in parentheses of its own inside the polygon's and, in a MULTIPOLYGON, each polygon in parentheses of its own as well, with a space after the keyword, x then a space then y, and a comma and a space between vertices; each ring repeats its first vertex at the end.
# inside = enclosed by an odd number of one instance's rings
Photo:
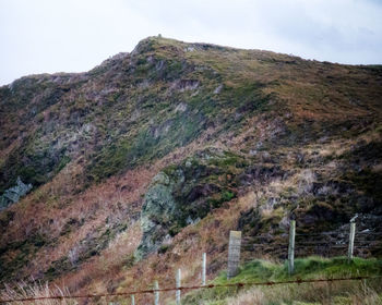
MULTIPOLYGON (((371 232, 362 231, 356 232, 356 223, 349 223, 349 231, 347 236, 342 232, 323 232, 323 233, 296 233, 296 222, 290 221, 289 234, 279 240, 276 240, 277 249, 284 253, 284 257, 288 261, 288 271, 294 273, 294 261, 295 256, 299 256, 299 251, 303 249, 305 253, 309 253, 309 249, 320 251, 322 246, 326 249, 336 249, 341 254, 346 254, 349 260, 353 259, 355 249, 367 248, 367 243, 374 241, 375 236, 382 236, 382 232, 371 232), (346 242, 345 242, 346 237, 346 242), (371 237, 371 239, 370 239, 371 237), (309 239, 309 241, 307 241, 309 239), (311 241, 315 239, 315 241, 311 241), (324 240, 323 240, 324 239, 324 240)), ((262 249, 272 249, 272 243, 270 243, 268 236, 241 236, 240 231, 230 231, 229 244, 228 244, 228 266, 227 266, 227 278, 230 279, 238 273, 238 268, 240 263, 246 263, 240 259, 241 252, 252 253, 263 255, 262 249), (266 241, 266 243, 265 243, 266 241)), ((273 248, 274 251, 275 248, 273 248)), ((309 253, 311 254, 311 253, 309 253)), ((252 259, 253 259, 252 255, 252 259)), ((314 283, 314 282, 335 282, 335 281, 356 281, 356 280, 367 280, 382 278, 378 277, 353 277, 353 278, 337 278, 337 279, 315 279, 315 280, 290 280, 290 281, 279 281, 279 282, 239 282, 239 283, 227 283, 227 284, 206 284, 206 265, 207 257, 203 253, 201 259, 202 266, 202 282, 201 285, 182 286, 181 285, 181 270, 176 271, 176 286, 175 288, 164 288, 159 289, 158 281, 154 282, 154 289, 152 290, 141 290, 131 291, 123 293, 108 293, 108 294, 87 294, 87 295, 57 295, 57 296, 41 296, 41 297, 24 297, 16 300, 0 300, 0 304, 12 303, 12 302, 28 302, 28 301, 44 301, 44 300, 65 300, 65 298, 92 298, 92 297, 112 297, 112 296, 131 296, 131 304, 135 305, 135 295, 138 294, 153 294, 154 304, 159 304, 159 293, 175 291, 176 304, 181 304, 181 292, 199 289, 213 289, 213 288, 229 288, 229 286, 244 286, 244 285, 277 285, 277 284, 300 284, 300 283, 314 283)))

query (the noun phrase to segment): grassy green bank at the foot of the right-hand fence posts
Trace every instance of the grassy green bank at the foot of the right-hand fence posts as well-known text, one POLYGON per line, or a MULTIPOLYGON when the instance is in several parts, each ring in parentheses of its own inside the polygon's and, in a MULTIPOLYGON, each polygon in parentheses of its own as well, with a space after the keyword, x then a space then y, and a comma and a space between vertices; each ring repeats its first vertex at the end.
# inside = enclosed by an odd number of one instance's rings
MULTIPOLYGON (((309 257, 297 259, 296 272, 288 276, 286 264, 253 260, 243 265, 240 272, 227 280, 223 272, 213 283, 285 281, 297 279, 350 278, 358 276, 381 276, 382 260, 355 258, 348 263, 345 257, 325 259, 309 257)), ((382 304, 382 279, 362 281, 319 282, 280 284, 274 286, 216 288, 188 294, 182 304, 382 304)))

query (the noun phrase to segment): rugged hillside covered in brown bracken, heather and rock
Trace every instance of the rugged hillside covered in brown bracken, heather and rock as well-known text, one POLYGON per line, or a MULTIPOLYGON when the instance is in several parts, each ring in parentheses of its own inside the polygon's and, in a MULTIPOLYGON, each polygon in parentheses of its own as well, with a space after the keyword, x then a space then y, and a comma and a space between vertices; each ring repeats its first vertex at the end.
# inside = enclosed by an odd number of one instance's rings
POLYGON ((0 283, 191 283, 203 252, 208 278, 225 268, 229 230, 284 259, 291 218, 382 232, 381 65, 150 37, 0 87, 0 283))

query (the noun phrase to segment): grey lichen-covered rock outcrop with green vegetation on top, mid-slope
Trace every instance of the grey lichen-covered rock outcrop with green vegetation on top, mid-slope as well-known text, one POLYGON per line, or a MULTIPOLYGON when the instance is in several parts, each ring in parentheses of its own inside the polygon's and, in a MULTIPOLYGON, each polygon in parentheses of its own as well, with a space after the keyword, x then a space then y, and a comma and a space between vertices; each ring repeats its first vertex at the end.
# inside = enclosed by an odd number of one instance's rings
POLYGON ((181 228, 236 197, 238 187, 284 174, 264 166, 256 166, 256 174, 247 173, 246 164, 236 154, 210 148, 159 172, 145 194, 141 213, 143 237, 135 258, 157 251, 181 228))

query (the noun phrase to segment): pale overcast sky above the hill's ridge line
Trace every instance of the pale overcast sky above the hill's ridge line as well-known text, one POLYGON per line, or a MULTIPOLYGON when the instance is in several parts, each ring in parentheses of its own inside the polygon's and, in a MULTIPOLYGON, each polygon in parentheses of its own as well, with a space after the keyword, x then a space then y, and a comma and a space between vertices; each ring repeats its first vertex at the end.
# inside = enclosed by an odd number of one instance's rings
POLYGON ((382 0, 0 0, 0 85, 87 71, 147 36, 382 63, 382 0))

